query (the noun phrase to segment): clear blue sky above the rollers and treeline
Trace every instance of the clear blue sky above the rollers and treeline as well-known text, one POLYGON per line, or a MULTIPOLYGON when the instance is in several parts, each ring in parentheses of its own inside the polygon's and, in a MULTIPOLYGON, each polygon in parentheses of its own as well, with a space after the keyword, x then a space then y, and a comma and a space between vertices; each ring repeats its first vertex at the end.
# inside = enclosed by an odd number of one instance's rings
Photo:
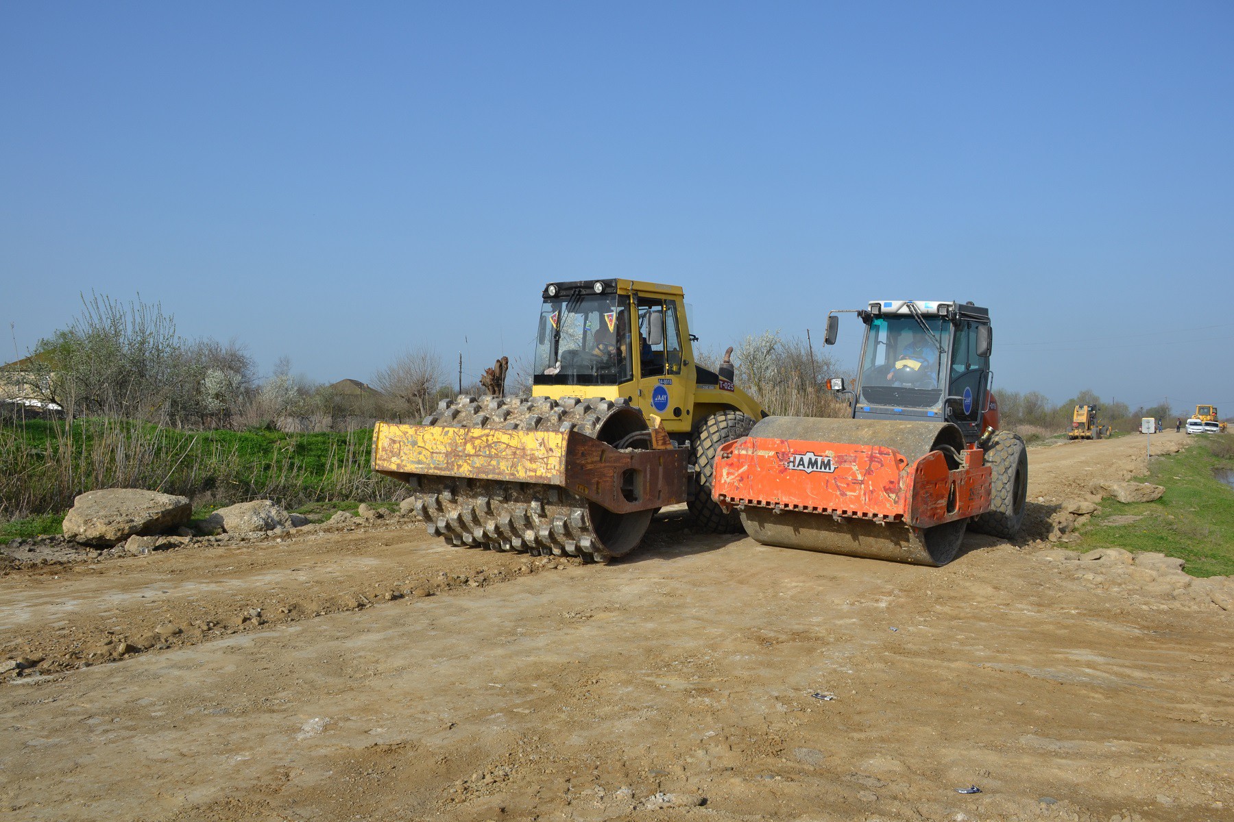
POLYGON ((474 375, 628 276, 717 346, 972 299, 996 385, 1234 409, 1232 184, 1230 2, 0 9, 21 352, 96 290, 267 371, 474 375))

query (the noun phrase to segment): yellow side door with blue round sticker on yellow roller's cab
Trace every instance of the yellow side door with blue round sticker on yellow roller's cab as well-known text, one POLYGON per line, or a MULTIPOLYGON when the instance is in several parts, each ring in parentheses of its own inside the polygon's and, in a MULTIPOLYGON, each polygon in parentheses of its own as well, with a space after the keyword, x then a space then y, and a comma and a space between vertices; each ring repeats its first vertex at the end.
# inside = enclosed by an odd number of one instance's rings
POLYGON ((638 308, 638 404, 668 431, 690 430, 691 386, 681 346, 681 319, 673 299, 636 297, 638 308))

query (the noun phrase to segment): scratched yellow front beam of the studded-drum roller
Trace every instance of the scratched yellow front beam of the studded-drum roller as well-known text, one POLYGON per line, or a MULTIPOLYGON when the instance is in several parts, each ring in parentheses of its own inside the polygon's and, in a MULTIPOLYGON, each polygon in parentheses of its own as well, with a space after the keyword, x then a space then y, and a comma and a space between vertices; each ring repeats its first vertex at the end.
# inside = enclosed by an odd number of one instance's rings
POLYGON ((427 473, 561 484, 568 434, 378 423, 373 467, 427 473))

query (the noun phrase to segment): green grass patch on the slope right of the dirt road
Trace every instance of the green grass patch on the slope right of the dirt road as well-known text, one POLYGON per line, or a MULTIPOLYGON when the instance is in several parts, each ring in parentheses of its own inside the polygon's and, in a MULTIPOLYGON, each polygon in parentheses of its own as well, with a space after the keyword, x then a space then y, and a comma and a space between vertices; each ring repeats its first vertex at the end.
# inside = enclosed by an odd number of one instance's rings
POLYGON ((1085 547, 1156 551, 1185 560, 1185 571, 1193 577, 1234 574, 1234 488, 1214 476, 1222 468, 1234 470, 1234 437, 1219 434, 1196 435, 1192 447, 1155 457, 1151 473, 1139 479, 1165 487, 1161 499, 1103 500, 1080 531, 1085 547), (1127 515, 1141 519, 1107 524, 1127 515))

